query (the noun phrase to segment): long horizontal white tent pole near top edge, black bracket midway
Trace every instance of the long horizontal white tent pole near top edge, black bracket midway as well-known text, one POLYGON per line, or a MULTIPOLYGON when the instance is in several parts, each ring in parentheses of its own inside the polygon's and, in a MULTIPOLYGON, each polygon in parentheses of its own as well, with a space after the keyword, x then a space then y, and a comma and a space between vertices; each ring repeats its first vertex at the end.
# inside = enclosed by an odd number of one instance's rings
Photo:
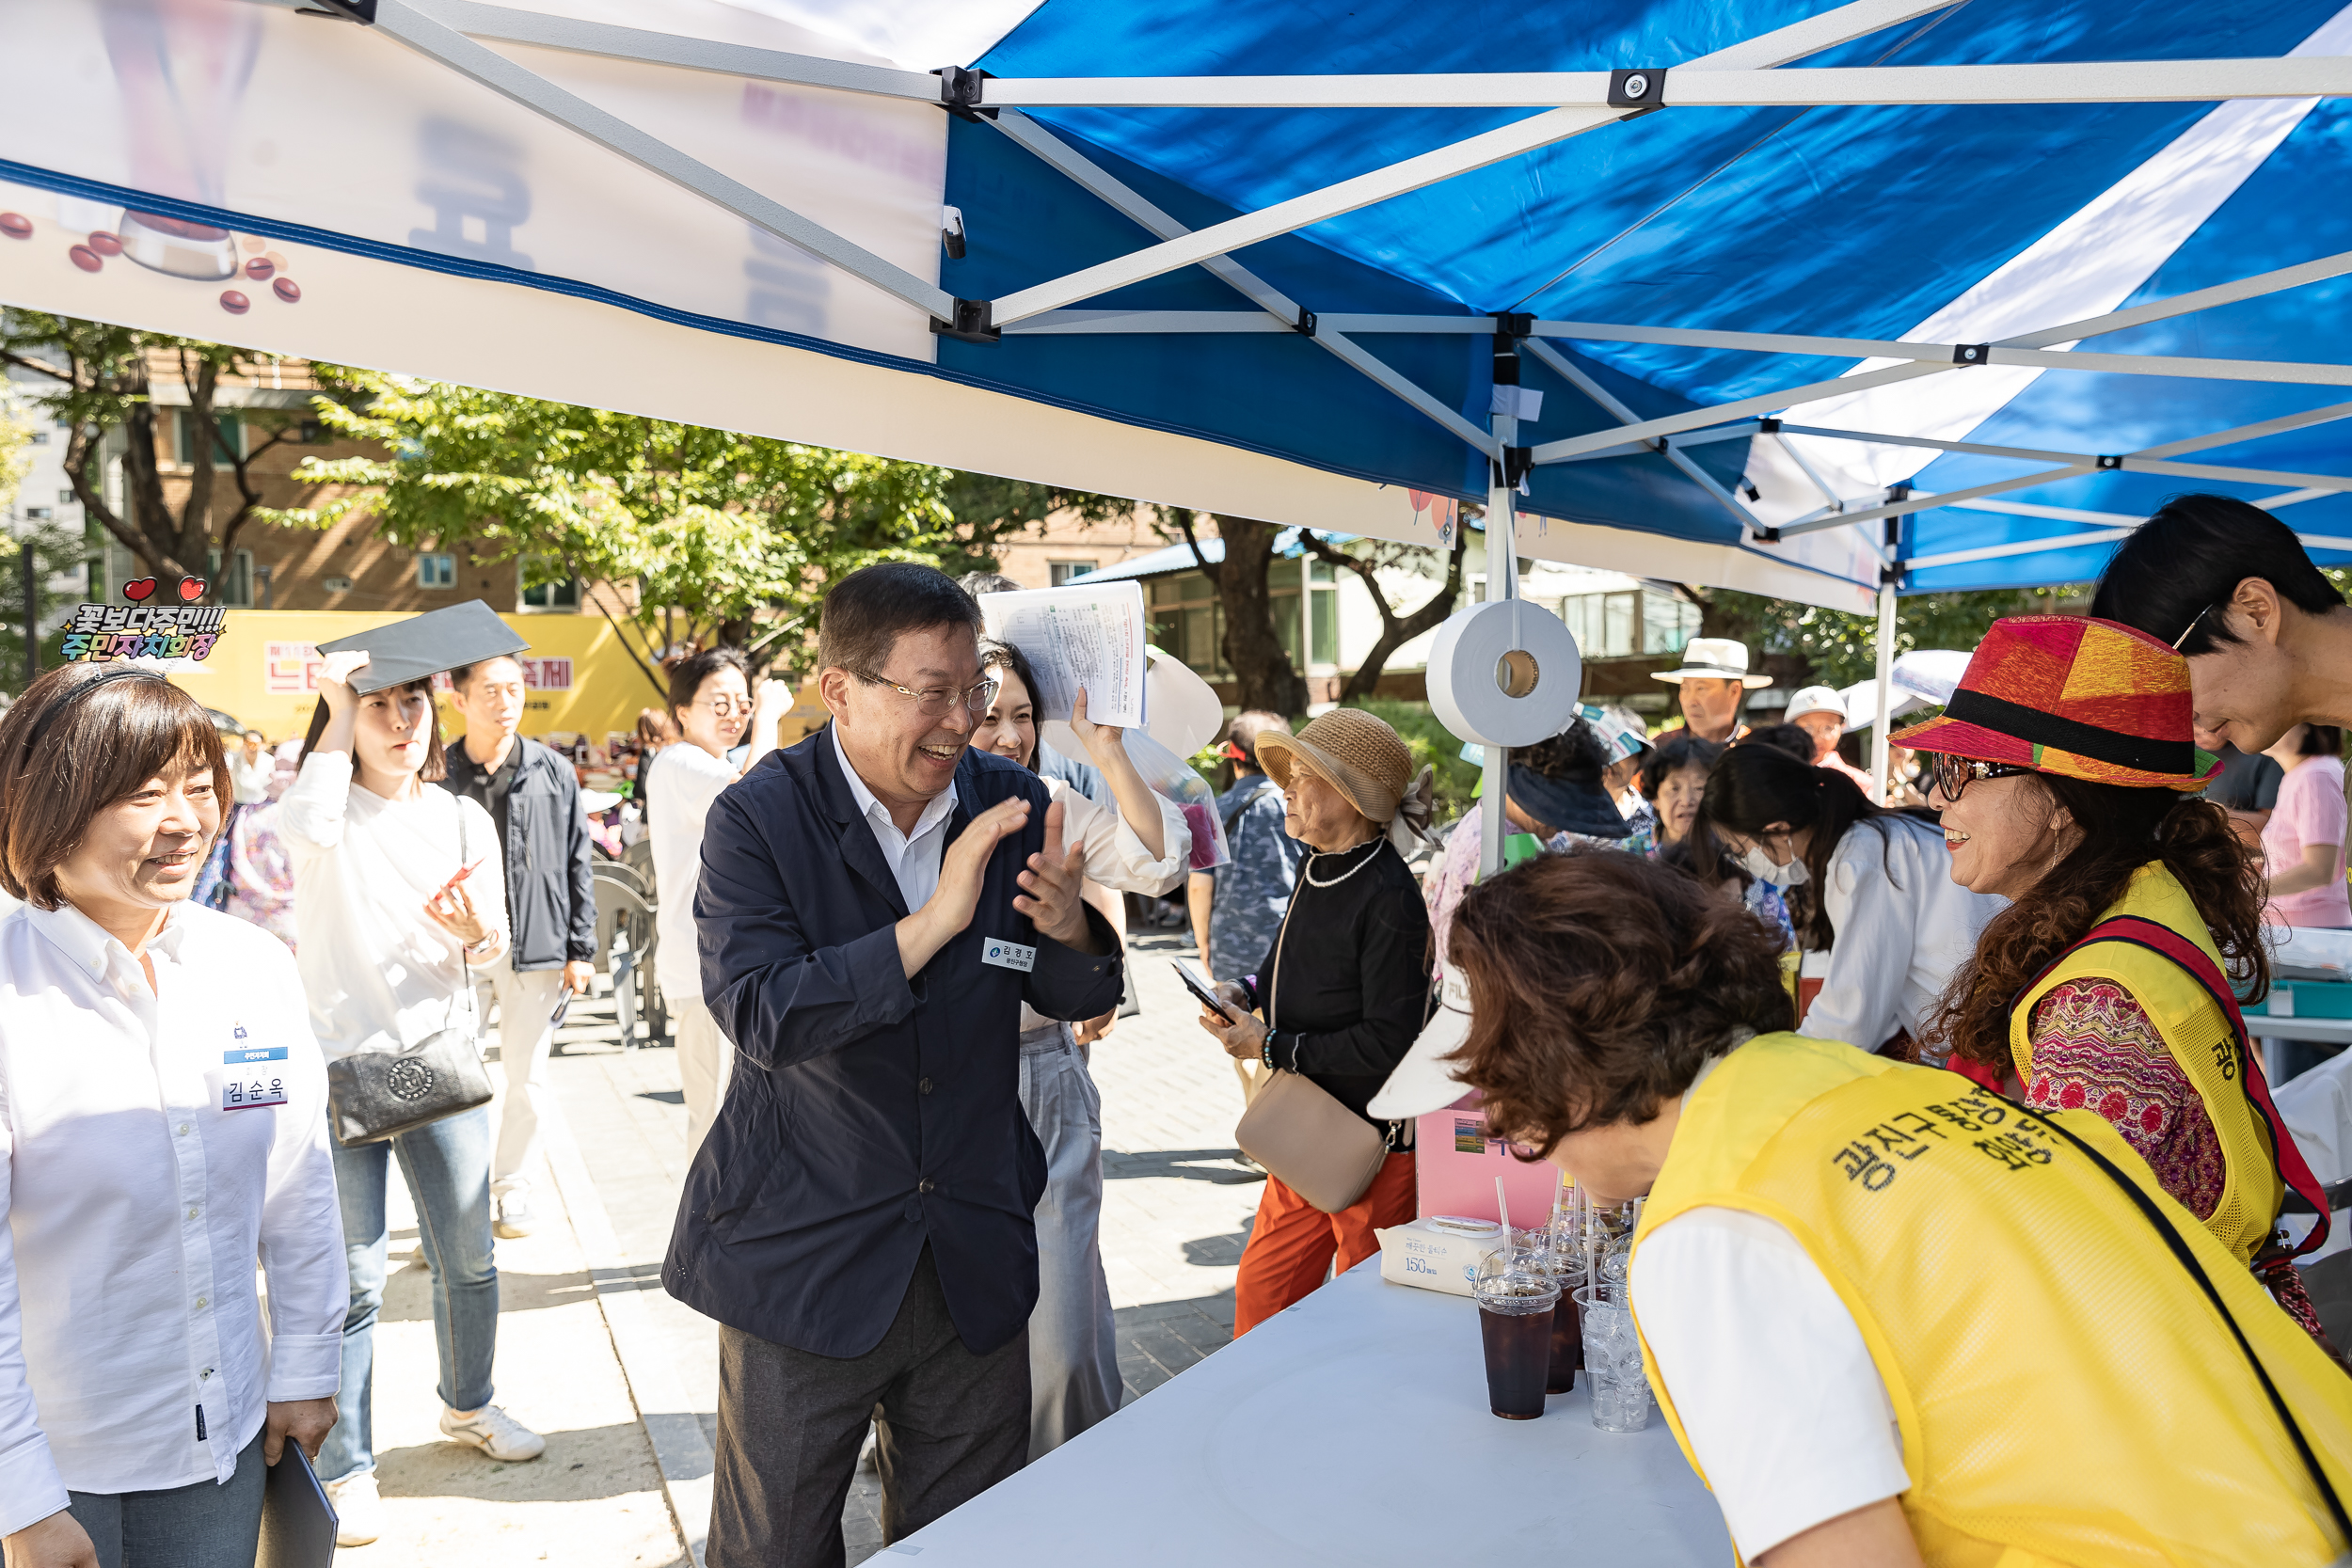
MULTIPOLYGON (((990 78, 981 101, 1014 108, 1611 108, 1611 75, 1609 71, 1030 75, 990 78)), ((1691 63, 1658 68, 1653 75, 1663 80, 1644 108, 2220 103, 2352 96, 2352 59, 2326 54, 1811 71, 1710 71, 1691 63)))

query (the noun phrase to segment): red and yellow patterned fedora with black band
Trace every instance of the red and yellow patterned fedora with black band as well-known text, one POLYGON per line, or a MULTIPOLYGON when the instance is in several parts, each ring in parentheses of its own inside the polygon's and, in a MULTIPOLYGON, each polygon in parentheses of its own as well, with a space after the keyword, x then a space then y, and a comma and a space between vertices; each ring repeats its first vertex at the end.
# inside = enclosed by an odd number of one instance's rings
POLYGON ((2154 790, 2197 790, 2220 771, 2190 733, 2190 661, 2089 616, 1994 621, 1943 717, 1891 741, 2154 790))

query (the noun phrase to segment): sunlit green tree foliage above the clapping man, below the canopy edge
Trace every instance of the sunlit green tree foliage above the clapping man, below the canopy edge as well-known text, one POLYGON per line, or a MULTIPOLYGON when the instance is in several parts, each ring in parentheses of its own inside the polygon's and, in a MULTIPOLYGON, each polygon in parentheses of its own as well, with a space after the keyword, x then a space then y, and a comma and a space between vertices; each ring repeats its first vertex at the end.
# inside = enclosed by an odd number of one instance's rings
POLYGON ((296 480, 343 491, 273 522, 374 517, 402 548, 468 538, 539 578, 635 583, 637 607, 616 625, 656 686, 661 654, 687 642, 753 646, 797 675, 828 583, 880 559, 990 559, 990 543, 1030 520, 1004 508, 960 522, 960 477, 946 468, 376 371, 318 374, 341 388, 320 418, 388 456, 303 463, 296 480))

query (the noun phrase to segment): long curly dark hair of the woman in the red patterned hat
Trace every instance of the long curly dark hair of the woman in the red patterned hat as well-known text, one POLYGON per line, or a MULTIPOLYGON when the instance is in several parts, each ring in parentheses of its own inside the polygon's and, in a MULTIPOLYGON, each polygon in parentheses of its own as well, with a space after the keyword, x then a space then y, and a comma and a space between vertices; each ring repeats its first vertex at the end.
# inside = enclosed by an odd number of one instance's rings
POLYGON ((2171 790, 2058 773, 2027 773, 2025 785, 2065 809, 2086 830, 2084 839, 2030 893, 1992 917, 1976 957, 1959 966, 1936 1001, 1922 1044, 2006 1067, 2009 1016, 2018 997, 2098 924, 2150 860, 2161 860, 2187 889, 2220 947, 2232 990, 2249 1004, 2270 992, 2263 870, 2220 806, 2171 790))

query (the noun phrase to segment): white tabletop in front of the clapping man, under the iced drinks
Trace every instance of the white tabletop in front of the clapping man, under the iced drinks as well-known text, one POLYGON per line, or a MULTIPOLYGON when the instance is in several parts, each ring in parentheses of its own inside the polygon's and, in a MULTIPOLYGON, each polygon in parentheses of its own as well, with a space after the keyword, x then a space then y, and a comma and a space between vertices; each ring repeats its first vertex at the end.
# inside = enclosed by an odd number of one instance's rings
POLYGON ((1541 1420, 1498 1420, 1477 1305, 1385 1284, 1371 1258, 877 1561, 1437 1568, 1519 1552, 1733 1561, 1656 1410, 1646 1432, 1595 1432, 1578 1375, 1541 1420))

